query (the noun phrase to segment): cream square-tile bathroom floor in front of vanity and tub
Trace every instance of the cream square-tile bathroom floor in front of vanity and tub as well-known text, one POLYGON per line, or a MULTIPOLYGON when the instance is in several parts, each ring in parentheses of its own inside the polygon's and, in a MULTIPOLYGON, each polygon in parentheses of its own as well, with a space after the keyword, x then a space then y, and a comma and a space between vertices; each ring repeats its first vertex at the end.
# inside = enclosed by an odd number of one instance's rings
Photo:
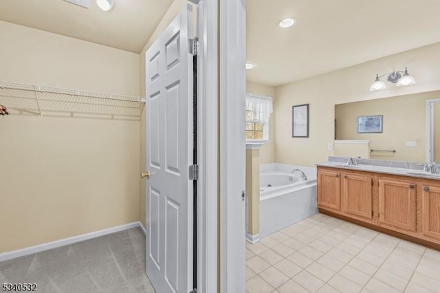
POLYGON ((246 291, 440 292, 440 252, 316 214, 246 244, 246 291))

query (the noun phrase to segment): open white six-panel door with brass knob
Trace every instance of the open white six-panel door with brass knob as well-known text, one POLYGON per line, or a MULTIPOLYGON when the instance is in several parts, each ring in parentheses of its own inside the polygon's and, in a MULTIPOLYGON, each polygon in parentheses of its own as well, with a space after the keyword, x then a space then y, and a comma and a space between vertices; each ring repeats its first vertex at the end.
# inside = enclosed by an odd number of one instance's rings
POLYGON ((146 274, 156 292, 192 290, 192 10, 146 52, 146 274))

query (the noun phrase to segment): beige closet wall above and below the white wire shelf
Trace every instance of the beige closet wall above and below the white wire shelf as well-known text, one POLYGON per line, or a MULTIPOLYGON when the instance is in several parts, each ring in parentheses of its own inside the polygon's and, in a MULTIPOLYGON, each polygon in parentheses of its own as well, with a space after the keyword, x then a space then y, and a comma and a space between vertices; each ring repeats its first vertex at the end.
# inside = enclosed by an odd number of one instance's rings
MULTIPOLYGON (((139 95, 137 54, 3 21, 0 39, 0 80, 139 95)), ((0 253, 139 220, 139 121, 0 120, 0 253)))

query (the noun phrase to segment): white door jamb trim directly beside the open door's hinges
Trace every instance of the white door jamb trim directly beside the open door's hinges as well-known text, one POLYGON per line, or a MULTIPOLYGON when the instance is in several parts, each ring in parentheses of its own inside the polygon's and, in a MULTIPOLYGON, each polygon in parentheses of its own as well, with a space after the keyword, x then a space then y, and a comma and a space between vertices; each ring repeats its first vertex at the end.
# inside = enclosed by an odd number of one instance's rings
MULTIPOLYGON (((201 0, 197 7, 198 158, 197 292, 217 292, 218 278, 218 2, 201 0)), ((244 112, 243 112, 244 113, 244 112)))

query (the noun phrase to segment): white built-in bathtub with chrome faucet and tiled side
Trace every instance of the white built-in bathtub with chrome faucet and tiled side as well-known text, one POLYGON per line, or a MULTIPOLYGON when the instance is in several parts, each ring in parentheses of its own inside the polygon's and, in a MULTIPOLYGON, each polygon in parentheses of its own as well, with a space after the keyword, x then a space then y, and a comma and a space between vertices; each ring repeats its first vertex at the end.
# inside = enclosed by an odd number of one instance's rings
POLYGON ((260 169, 260 238, 318 213, 316 168, 265 164, 260 169), (303 180, 300 169, 307 175, 303 180))

